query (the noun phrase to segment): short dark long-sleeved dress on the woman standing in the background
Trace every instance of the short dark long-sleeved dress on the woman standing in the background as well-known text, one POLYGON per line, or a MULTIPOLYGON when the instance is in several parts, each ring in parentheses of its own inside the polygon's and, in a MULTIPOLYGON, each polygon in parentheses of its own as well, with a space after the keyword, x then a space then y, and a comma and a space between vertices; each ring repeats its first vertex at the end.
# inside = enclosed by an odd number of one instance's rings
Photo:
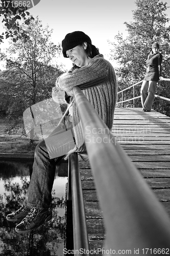
MULTIPOLYGON (((146 81, 158 81, 159 80, 159 71, 158 65, 161 66, 162 63, 162 54, 149 54, 147 59, 147 73, 143 80, 146 81)), ((160 74, 161 75, 161 74, 160 74)))

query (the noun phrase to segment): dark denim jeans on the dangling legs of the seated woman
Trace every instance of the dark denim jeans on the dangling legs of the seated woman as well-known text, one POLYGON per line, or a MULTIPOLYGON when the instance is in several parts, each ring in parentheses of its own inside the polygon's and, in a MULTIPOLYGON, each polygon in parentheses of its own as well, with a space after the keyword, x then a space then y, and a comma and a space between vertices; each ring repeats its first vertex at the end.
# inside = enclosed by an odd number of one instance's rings
MULTIPOLYGON (((63 133, 68 128, 71 128, 72 123, 64 119, 60 126, 53 131, 50 136, 56 133, 63 133)), ((49 136, 49 137, 50 137, 49 136)), ((55 138, 55 137, 54 137, 55 138)), ((74 142, 74 140, 73 140, 74 142)), ((57 143, 57 142, 56 142, 57 143)), ((72 149, 75 143, 68 143, 68 151, 72 149)), ((61 148, 61 144, 59 145, 61 148)), ((53 150, 53 145, 50 150, 53 150)), ((63 158, 58 156, 50 159, 48 154, 49 148, 47 149, 45 140, 42 140, 35 149, 33 173, 31 176, 29 188, 26 194, 26 198, 23 201, 23 205, 31 208, 49 208, 52 200, 52 188, 55 178, 56 164, 63 158)))

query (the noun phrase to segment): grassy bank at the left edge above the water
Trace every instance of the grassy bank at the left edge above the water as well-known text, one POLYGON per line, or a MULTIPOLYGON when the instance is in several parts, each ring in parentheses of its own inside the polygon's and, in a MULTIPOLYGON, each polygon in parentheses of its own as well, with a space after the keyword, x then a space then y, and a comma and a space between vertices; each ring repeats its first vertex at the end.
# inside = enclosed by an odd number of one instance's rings
POLYGON ((0 116, 0 153, 33 154, 36 144, 30 145, 30 141, 21 136, 21 129, 12 135, 6 134, 4 130, 7 124, 6 118, 0 116))

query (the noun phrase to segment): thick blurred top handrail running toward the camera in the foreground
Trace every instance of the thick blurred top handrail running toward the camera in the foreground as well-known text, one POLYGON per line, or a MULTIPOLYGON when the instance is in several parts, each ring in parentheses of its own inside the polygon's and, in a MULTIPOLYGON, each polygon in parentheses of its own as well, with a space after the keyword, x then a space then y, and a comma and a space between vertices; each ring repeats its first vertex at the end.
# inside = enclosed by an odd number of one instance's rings
POLYGON ((103 211, 105 249, 133 254, 138 248, 141 255, 143 248, 168 248, 170 220, 163 206, 80 88, 72 90, 103 211))

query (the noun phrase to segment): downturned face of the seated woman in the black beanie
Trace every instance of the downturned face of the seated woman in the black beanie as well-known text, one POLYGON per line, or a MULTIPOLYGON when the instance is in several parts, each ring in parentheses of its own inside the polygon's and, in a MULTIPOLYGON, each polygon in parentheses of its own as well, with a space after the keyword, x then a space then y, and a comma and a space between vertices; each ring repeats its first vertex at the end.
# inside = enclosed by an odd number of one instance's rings
POLYGON ((76 66, 81 68, 86 66, 90 60, 85 52, 86 48, 87 44, 84 43, 82 46, 79 45, 70 50, 67 50, 66 55, 72 61, 72 63, 75 63, 76 66))

